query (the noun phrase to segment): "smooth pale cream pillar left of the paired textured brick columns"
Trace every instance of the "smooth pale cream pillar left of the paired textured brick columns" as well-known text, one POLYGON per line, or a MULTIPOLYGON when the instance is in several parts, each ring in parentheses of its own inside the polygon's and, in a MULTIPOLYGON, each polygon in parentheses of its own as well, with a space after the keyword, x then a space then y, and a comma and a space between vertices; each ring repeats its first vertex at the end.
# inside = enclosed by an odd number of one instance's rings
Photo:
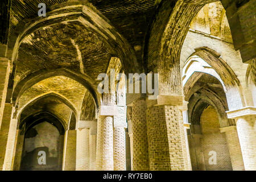
POLYGON ((76 171, 89 170, 89 129, 77 130, 76 171))

